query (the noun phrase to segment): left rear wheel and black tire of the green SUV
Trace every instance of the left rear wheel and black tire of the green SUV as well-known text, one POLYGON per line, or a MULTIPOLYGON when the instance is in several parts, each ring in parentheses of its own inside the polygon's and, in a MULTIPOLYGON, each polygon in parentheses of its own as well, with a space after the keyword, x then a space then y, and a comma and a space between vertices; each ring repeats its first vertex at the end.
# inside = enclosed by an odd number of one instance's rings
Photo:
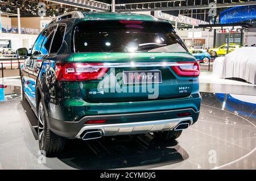
POLYGON ((46 154, 47 157, 59 154, 64 149, 65 144, 64 137, 54 134, 49 129, 42 99, 38 105, 38 142, 41 153, 46 154))

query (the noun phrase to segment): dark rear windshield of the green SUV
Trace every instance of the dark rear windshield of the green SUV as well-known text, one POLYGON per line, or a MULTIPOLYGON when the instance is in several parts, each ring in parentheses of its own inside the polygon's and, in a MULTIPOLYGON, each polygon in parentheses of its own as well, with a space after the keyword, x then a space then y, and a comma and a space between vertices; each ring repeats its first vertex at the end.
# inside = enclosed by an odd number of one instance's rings
POLYGON ((74 52, 187 52, 171 24, 141 21, 90 21, 76 25, 74 52))

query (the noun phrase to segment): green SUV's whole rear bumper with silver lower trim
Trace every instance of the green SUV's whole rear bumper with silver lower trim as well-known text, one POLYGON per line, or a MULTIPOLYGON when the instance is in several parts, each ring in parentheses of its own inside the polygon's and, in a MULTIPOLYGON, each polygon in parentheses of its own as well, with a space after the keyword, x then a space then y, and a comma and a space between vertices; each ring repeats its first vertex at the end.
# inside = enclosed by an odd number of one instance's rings
POLYGON ((168 131, 179 123, 195 123, 199 112, 192 108, 168 111, 127 113, 117 115, 85 116, 80 121, 60 121, 49 117, 49 128, 59 136, 80 138, 86 131, 101 131, 102 136, 143 134, 148 132, 168 131), (191 116, 178 117, 177 113, 190 112, 191 116), (107 120, 106 124, 84 124, 88 120, 107 120))

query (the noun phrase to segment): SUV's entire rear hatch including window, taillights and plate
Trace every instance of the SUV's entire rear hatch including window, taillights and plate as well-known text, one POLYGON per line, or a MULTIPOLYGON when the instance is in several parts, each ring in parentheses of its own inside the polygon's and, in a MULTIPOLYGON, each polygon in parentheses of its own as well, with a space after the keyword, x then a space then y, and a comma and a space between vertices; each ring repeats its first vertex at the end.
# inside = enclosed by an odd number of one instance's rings
POLYGON ((191 94, 199 66, 169 23, 82 22, 73 37, 73 66, 86 102, 176 99, 191 94))

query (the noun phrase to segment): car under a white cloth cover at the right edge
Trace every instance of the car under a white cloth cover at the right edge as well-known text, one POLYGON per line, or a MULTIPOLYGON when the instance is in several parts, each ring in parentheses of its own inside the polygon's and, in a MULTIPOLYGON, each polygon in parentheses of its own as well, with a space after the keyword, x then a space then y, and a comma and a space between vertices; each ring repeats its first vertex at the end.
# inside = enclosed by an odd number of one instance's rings
POLYGON ((242 47, 226 54, 220 78, 232 77, 256 84, 256 47, 242 47))

